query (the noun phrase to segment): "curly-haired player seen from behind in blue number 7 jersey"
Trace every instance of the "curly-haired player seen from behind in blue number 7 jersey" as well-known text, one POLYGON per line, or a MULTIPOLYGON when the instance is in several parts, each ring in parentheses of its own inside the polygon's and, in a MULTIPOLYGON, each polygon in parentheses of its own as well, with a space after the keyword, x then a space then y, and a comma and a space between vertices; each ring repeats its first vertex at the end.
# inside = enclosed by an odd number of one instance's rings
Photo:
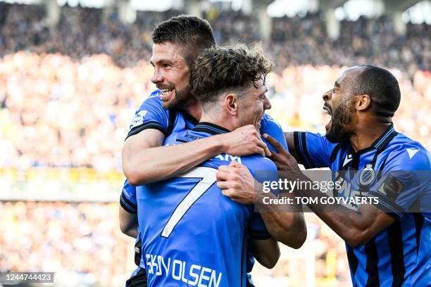
MULTIPOLYGON (((268 59, 242 45, 205 51, 192 70, 201 121, 193 129, 171 134, 163 145, 211 139, 245 125, 259 129, 270 70, 268 59)), ((302 217, 296 220, 296 214, 284 212, 277 221, 263 224, 253 205, 223 196, 215 174, 220 165, 234 160, 249 167, 258 181, 277 180, 277 168, 262 155, 222 153, 172 179, 137 186, 148 286, 246 286, 248 238, 256 259, 269 267, 279 256, 275 239, 290 243, 293 237, 299 245, 304 243, 302 217), (258 176, 259 170, 267 173, 258 176)))

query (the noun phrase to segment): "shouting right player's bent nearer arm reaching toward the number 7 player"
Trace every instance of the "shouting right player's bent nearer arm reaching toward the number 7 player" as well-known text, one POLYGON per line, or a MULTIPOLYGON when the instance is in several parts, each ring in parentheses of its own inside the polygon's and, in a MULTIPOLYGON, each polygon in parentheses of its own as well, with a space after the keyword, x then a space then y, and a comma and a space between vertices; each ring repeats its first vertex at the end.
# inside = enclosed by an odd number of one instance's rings
MULTIPOLYGON (((277 146, 277 143, 274 139, 271 139, 269 136, 266 136, 267 141, 271 145, 277 146)), ((296 160, 289 155, 286 151, 282 151, 280 146, 277 146, 277 150, 279 151, 277 154, 273 153, 273 161, 282 170, 287 170, 285 174, 287 174, 288 179, 296 179, 299 180, 309 180, 304 174, 302 174, 301 170, 297 165, 296 160)), ((408 162, 406 159, 407 152, 401 151, 400 155, 392 155, 392 159, 387 160, 386 169, 387 170, 420 170, 421 166, 426 166, 426 157, 423 160, 424 164, 420 165, 420 167, 413 166, 412 161, 408 162), (411 167, 408 167, 405 162, 411 164, 411 167)), ((389 157, 388 157, 389 158, 389 157)), ((387 180, 394 180, 390 176, 393 175, 389 172, 389 176, 383 177, 382 180, 375 184, 377 189, 379 186, 383 186, 387 184, 387 180)), ((380 198, 380 203, 378 205, 372 204, 362 204, 359 206, 357 211, 350 210, 343 205, 322 205, 322 204, 309 204, 308 207, 313 210, 313 212, 320 217, 332 230, 334 230, 341 238, 346 241, 352 247, 356 247, 359 245, 363 245, 370 241, 377 233, 389 227, 390 224, 394 222, 394 218, 402 217, 402 213, 400 210, 406 210, 406 203, 412 203, 418 196, 419 192, 416 192, 415 189, 418 186, 411 172, 405 172, 401 177, 395 179, 396 181, 402 181, 402 184, 396 186, 411 186, 410 189, 404 191, 404 196, 399 197, 403 198, 404 201, 396 202, 394 198, 387 198, 384 194, 382 194, 377 189, 370 191, 368 196, 377 196, 380 198), (406 200, 405 198, 413 198, 411 200, 406 200), (401 205, 401 206, 400 206, 401 205), (404 205, 404 206, 403 206, 404 205)), ((294 191, 295 192, 295 191, 294 191)), ((396 191, 396 193, 400 193, 396 191)), ((322 198, 327 196, 326 193, 319 191, 318 189, 305 189, 300 192, 296 192, 297 196, 305 196, 311 198, 322 198)), ((318 200, 318 202, 322 202, 318 200)))

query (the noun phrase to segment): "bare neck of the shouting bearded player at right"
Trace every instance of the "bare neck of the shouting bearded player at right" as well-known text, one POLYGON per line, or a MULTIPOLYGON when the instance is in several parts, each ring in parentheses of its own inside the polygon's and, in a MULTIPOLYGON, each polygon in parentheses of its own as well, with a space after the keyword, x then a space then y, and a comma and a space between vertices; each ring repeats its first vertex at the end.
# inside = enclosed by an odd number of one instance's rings
POLYGON ((376 139, 384 134, 388 127, 392 125, 389 122, 373 122, 364 125, 358 125, 355 134, 350 136, 350 144, 355 152, 370 147, 376 139))

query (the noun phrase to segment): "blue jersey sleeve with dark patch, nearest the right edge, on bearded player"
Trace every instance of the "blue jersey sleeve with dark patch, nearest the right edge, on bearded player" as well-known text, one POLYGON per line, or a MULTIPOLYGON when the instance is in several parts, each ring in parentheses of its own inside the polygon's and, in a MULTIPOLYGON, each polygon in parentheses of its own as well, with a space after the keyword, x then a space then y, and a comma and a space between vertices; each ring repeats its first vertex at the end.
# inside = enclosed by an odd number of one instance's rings
POLYGON ((430 211, 430 155, 422 149, 411 157, 407 150, 389 154, 367 195, 378 198, 377 208, 398 218, 403 212, 430 211))

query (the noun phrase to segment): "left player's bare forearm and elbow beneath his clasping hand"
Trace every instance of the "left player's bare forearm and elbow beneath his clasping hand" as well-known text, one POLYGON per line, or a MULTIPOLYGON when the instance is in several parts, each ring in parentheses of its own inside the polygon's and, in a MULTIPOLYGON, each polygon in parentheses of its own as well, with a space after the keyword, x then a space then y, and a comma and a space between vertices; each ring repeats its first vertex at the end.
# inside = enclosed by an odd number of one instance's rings
MULTIPOLYGON (((276 198, 272 193, 265 196, 276 198)), ((263 202, 262 198, 259 202, 263 202)), ((277 241, 292 247, 300 248, 307 237, 306 223, 300 208, 294 207, 291 211, 280 210, 278 205, 265 205, 261 217, 268 232, 277 241)))

